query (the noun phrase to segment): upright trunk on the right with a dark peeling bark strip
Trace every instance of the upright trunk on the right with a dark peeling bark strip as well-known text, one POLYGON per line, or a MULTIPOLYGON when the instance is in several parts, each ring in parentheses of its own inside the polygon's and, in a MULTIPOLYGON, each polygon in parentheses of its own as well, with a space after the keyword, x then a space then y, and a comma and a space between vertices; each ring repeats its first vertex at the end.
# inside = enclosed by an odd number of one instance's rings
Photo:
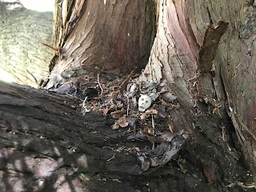
POLYGON ((141 80, 166 82, 186 108, 199 99, 222 111, 224 119, 228 110, 255 175, 255 6, 243 1, 158 2, 158 34, 141 80))

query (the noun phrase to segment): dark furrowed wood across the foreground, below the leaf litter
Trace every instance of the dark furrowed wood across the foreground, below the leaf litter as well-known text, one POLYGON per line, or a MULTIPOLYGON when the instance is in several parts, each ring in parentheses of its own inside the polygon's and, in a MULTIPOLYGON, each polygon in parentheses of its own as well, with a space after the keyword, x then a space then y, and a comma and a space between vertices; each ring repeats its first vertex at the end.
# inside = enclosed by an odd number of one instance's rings
MULTIPOLYGON (((69 96, 1 82, 1 191, 242 191, 238 182, 250 182, 232 135, 222 141, 225 125, 216 117, 194 118, 184 150, 143 172, 136 154, 114 149, 149 142, 126 141, 125 130, 110 129, 112 119, 83 116, 76 107, 69 96)), ((175 126, 187 126, 186 113, 171 111, 175 126)))

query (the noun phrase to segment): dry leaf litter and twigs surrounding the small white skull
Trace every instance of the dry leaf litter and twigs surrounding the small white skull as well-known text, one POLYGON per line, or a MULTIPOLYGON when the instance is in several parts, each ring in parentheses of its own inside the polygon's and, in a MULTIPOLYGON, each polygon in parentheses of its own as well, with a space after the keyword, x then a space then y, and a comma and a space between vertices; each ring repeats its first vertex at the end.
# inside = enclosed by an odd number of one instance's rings
POLYGON ((176 96, 166 90, 164 82, 140 82, 137 77, 134 70, 125 78, 107 73, 97 74, 97 77, 91 73, 79 74, 75 78, 58 75, 56 82, 53 82, 55 78, 50 79, 54 86, 48 87, 59 94, 78 98, 83 115, 97 111, 106 118, 114 118, 110 127, 125 139, 127 146, 112 150, 135 154, 143 172, 170 162, 182 150, 189 134, 183 127, 174 126, 175 120, 170 118, 169 112, 178 110, 180 105, 176 96), (138 110, 141 95, 149 96, 152 101, 145 112, 138 110), (129 143, 138 146, 129 146, 129 143))

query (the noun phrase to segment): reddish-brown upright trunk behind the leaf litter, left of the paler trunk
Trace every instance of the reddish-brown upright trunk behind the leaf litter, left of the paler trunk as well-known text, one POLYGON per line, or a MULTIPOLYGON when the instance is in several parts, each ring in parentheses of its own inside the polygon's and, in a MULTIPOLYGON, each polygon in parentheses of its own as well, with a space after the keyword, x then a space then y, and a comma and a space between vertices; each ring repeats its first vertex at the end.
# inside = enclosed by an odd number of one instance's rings
POLYGON ((54 12, 59 52, 50 66, 52 73, 81 68, 128 73, 134 66, 146 66, 155 34, 154 1, 65 1, 61 5, 62 11, 54 12))

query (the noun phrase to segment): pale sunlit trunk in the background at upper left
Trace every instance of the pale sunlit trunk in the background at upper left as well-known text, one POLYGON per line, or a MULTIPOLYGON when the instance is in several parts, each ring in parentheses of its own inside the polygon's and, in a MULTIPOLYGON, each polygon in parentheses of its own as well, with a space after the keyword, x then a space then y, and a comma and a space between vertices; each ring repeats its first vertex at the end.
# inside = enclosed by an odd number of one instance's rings
POLYGON ((0 64, 23 85, 38 87, 49 74, 53 50, 52 13, 26 10, 18 2, 0 2, 0 64))

